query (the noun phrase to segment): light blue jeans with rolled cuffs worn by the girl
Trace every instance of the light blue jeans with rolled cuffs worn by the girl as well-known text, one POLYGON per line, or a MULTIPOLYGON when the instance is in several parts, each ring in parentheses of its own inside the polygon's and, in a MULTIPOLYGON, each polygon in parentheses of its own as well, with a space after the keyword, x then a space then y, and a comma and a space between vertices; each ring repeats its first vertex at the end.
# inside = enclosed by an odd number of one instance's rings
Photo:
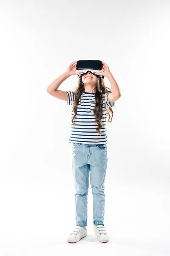
POLYGON ((104 226, 107 145, 73 143, 72 170, 75 185, 76 226, 87 226, 89 172, 93 194, 93 224, 104 226))

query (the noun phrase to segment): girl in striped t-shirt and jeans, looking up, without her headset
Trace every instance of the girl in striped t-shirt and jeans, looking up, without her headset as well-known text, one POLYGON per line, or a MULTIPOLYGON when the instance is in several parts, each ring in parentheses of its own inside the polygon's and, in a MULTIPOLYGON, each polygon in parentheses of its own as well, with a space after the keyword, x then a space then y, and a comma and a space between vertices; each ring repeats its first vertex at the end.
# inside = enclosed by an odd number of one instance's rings
POLYGON ((121 96, 119 87, 105 62, 102 61, 104 72, 92 74, 88 71, 80 76, 76 70, 77 61, 73 61, 68 69, 54 80, 47 92, 67 101, 72 107, 71 136, 72 170, 75 185, 75 220, 76 227, 67 238, 68 242, 78 242, 87 236, 87 198, 90 184, 93 194, 94 235, 100 242, 108 242, 109 237, 104 226, 105 215, 105 175, 108 163, 106 114, 108 122, 112 121, 115 101, 121 96), (75 91, 58 90, 60 84, 72 75, 79 75, 78 87, 75 91), (105 86, 106 76, 111 83, 111 90, 105 86), (108 112, 111 112, 110 113, 108 112), (110 121, 111 118, 111 121, 110 121))

